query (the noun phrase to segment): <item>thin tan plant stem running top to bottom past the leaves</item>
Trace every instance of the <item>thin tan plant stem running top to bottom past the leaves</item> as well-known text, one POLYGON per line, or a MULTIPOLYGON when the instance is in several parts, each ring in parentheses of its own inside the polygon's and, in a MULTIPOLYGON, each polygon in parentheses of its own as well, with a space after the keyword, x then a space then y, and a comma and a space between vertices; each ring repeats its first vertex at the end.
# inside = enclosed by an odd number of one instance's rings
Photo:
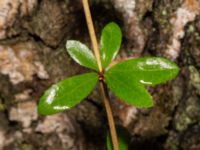
MULTIPOLYGON (((97 59, 99 73, 101 74, 103 72, 103 68, 102 68, 102 64, 101 64, 99 47, 98 47, 98 43, 97 43, 96 34, 94 31, 94 25, 93 25, 93 21, 92 21, 92 17, 91 17, 88 0, 82 0, 82 2, 83 2, 86 21, 87 21, 87 26, 88 26, 89 33, 90 33, 90 38, 92 41, 93 51, 94 51, 95 57, 97 59)), ((112 110, 111 110, 110 103, 109 103, 110 98, 109 98, 109 94, 108 94, 108 89, 103 80, 100 80, 100 88, 102 91, 103 102, 105 105, 106 114, 107 114, 107 118, 108 118, 108 124, 109 124, 109 128, 110 128, 113 149, 119 150, 117 132, 116 132, 116 128, 115 128, 112 110)))

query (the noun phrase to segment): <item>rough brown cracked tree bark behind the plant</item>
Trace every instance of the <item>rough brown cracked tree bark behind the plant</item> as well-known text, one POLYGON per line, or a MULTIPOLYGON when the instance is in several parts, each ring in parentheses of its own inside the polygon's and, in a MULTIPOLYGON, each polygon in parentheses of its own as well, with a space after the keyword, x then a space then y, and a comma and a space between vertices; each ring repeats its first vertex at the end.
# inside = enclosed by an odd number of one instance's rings
MULTIPOLYGON (((98 37, 110 21, 121 26, 118 60, 164 56, 181 67, 173 81, 149 88, 151 109, 112 96, 116 124, 131 136, 129 149, 199 150, 200 1, 91 0, 91 10, 98 37)), ((48 86, 87 71, 66 53, 67 39, 90 45, 80 0, 0 1, 0 150, 105 149, 98 88, 65 113, 37 114, 48 86)))

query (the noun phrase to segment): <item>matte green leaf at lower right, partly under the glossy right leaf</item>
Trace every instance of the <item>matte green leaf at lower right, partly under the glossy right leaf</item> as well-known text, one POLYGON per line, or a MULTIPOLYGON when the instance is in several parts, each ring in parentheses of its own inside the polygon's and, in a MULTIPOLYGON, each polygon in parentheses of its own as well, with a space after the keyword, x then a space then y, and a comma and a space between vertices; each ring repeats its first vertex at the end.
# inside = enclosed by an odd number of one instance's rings
POLYGON ((126 103, 141 108, 153 105, 152 97, 144 85, 134 81, 131 75, 108 71, 104 77, 111 91, 126 103))

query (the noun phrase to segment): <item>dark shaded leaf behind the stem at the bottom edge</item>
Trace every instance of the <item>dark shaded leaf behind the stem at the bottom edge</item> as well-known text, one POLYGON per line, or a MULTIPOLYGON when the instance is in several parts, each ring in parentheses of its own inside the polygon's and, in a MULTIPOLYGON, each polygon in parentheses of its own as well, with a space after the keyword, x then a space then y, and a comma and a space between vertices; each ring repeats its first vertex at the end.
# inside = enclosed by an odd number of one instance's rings
MULTIPOLYGON (((129 135, 127 131, 125 132, 125 130, 123 130, 122 128, 117 127, 117 135, 118 135, 117 138, 119 143, 119 149, 128 150, 129 135)), ((109 132, 107 132, 106 145, 107 145, 107 150, 113 150, 111 136, 109 132)))

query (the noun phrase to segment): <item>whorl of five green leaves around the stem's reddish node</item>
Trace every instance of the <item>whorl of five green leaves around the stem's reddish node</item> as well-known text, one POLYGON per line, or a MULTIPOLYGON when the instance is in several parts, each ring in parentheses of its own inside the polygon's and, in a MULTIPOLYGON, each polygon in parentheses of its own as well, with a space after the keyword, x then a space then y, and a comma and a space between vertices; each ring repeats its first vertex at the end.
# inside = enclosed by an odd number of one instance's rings
POLYGON ((97 61, 92 51, 79 41, 67 41, 67 52, 74 61, 93 72, 66 78, 52 85, 40 99, 39 113, 51 115, 76 106, 90 94, 98 80, 103 80, 127 104, 139 108, 153 106, 152 97, 145 86, 173 79, 179 68, 174 62, 162 57, 129 58, 110 66, 120 49, 121 41, 120 27, 113 22, 107 24, 100 39, 103 79, 102 75, 99 77, 97 61))

